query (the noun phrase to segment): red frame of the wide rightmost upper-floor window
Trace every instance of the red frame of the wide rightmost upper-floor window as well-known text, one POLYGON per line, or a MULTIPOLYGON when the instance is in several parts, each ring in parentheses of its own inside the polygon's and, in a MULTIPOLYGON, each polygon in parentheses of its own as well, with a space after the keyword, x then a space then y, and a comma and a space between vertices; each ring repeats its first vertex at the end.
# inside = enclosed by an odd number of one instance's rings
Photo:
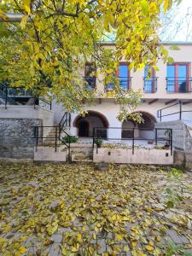
MULTIPOLYGON (((179 77, 178 77, 178 67, 179 66, 186 66, 186 92, 189 91, 189 77, 190 77, 190 62, 174 62, 172 64, 169 64, 167 63, 166 64, 167 66, 174 66, 175 68, 175 76, 174 76, 174 79, 175 79, 175 91, 174 92, 179 92, 179 77)), ((166 76, 166 78, 168 79, 168 77, 166 76)))

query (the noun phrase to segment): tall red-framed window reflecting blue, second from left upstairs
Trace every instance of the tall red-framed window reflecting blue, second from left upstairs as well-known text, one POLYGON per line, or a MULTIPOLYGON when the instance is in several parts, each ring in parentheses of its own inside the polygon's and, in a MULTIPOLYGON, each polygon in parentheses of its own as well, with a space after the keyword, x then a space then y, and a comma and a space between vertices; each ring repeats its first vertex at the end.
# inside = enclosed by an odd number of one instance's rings
MULTIPOLYGON (((119 62, 119 67, 114 76, 116 79, 119 79, 119 85, 123 90, 129 90, 131 88, 131 77, 127 62, 119 62)), ((107 90, 113 90, 113 82, 108 83, 106 87, 107 90)))

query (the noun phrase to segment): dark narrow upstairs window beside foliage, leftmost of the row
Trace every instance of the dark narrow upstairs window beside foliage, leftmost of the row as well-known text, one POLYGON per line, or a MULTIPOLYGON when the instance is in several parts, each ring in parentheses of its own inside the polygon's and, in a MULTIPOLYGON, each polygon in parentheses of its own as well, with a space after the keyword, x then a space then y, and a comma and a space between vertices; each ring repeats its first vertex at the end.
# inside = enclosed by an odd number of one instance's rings
POLYGON ((94 63, 85 64, 84 82, 85 90, 94 90, 96 88, 96 66, 94 63))

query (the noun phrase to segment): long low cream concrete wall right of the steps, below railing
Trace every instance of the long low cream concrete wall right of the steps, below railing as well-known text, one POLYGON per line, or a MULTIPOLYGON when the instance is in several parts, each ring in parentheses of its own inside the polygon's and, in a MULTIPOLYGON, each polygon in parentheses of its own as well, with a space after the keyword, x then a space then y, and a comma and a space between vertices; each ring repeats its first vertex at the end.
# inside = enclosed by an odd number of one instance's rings
POLYGON ((94 162, 107 162, 119 164, 151 164, 172 165, 173 155, 170 150, 165 149, 132 149, 125 148, 95 148, 93 154, 94 162))

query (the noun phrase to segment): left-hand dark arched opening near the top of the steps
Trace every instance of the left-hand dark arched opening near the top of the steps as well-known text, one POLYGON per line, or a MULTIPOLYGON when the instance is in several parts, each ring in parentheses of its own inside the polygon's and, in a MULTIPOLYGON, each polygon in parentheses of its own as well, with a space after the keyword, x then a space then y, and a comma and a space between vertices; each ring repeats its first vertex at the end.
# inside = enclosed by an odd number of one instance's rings
POLYGON ((98 137, 107 137, 108 119, 96 111, 90 110, 84 117, 77 116, 73 126, 78 128, 79 137, 92 137, 94 128, 98 137))

